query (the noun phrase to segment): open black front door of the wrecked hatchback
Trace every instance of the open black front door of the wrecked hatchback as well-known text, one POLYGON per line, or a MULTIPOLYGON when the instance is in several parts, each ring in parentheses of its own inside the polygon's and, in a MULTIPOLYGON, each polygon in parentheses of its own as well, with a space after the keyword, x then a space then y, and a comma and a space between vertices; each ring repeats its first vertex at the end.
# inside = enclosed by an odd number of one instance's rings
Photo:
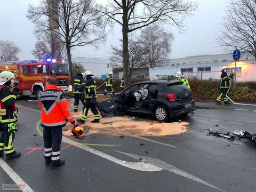
POLYGON ((110 114, 122 113, 123 98, 121 95, 111 95, 106 101, 100 101, 97 103, 97 108, 100 111, 102 117, 106 117, 110 114))

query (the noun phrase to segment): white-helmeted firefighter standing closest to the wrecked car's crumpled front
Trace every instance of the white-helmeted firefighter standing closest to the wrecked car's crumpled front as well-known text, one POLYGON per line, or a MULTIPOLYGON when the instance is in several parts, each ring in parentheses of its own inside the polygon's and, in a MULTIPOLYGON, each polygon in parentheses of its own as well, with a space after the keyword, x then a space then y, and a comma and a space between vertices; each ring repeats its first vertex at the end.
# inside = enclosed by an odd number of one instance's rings
POLYGON ((99 123, 100 122, 100 115, 99 111, 97 110, 97 93, 96 93, 96 82, 93 80, 93 74, 91 71, 85 71, 84 76, 86 78, 86 84, 84 86, 85 89, 85 105, 83 108, 83 115, 77 122, 84 123, 85 119, 87 118, 88 110, 91 108, 91 111, 94 115, 94 120, 91 123, 99 123))

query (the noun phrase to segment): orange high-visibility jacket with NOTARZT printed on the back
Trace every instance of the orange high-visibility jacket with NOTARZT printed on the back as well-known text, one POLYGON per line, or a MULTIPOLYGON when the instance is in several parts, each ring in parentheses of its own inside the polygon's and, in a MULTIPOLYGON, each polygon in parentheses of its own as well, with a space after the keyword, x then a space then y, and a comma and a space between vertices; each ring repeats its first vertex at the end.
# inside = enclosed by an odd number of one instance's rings
POLYGON ((43 92, 38 93, 38 103, 42 109, 42 126, 62 127, 66 125, 66 119, 70 123, 75 121, 69 111, 66 95, 55 85, 47 85, 43 92))

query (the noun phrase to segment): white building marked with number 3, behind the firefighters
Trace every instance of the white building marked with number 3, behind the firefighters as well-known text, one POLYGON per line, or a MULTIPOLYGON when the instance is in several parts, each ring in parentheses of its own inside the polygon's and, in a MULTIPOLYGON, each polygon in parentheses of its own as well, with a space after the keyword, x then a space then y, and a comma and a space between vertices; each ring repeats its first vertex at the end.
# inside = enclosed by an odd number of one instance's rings
POLYGON ((113 72, 110 59, 102 55, 75 54, 72 55, 73 63, 81 63, 86 70, 90 70, 95 78, 102 78, 113 72))

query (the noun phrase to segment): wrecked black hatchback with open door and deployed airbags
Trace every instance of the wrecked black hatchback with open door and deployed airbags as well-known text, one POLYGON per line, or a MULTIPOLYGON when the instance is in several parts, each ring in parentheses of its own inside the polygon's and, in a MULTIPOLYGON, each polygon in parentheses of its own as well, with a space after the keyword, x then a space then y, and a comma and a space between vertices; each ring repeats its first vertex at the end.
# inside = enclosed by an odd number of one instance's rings
POLYGON ((98 103, 101 115, 121 112, 154 115, 161 122, 194 111, 192 92, 179 81, 146 81, 135 83, 124 91, 98 103))

